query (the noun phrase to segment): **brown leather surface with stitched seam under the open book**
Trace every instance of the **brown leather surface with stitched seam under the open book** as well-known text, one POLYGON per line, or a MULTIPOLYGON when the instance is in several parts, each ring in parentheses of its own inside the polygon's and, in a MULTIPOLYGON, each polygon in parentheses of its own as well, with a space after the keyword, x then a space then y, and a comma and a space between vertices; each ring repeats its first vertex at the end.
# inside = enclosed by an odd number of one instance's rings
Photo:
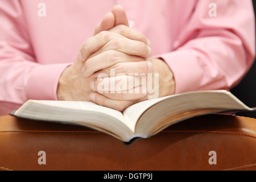
POLYGON ((0 170, 256 171, 256 119, 196 117, 126 146, 86 127, 8 115, 0 117, 0 170), (217 164, 209 164, 210 151, 217 164))

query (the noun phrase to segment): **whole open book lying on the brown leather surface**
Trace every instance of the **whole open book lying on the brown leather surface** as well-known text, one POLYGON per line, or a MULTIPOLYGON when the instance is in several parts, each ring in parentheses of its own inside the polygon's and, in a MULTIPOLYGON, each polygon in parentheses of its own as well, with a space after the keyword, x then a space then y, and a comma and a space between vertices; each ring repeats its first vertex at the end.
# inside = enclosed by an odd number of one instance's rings
POLYGON ((29 100, 11 115, 40 121, 90 127, 129 143, 148 138, 166 127, 197 115, 253 111, 225 90, 197 91, 147 100, 120 111, 77 101, 29 100))

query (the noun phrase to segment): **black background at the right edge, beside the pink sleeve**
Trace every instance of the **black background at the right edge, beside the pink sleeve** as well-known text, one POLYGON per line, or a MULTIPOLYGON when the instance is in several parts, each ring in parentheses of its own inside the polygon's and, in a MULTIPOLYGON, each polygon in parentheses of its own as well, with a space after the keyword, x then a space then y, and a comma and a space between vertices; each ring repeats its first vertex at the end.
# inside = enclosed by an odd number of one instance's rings
MULTIPOLYGON (((253 0, 253 6, 254 12, 256 12, 255 0, 253 0)), ((230 91, 247 106, 256 107, 256 60, 254 61, 253 67, 251 67, 240 84, 230 91)), ((239 113, 237 115, 256 118, 256 111, 252 113, 239 113)))

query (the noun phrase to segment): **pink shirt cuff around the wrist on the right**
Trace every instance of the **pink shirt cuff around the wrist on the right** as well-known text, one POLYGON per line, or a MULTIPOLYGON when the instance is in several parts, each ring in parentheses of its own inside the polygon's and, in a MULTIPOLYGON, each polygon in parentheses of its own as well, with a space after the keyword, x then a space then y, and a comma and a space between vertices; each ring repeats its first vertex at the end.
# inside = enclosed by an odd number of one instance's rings
POLYGON ((170 67, 175 79, 175 94, 200 90, 204 73, 200 58, 193 51, 179 50, 156 57, 162 58, 170 67))

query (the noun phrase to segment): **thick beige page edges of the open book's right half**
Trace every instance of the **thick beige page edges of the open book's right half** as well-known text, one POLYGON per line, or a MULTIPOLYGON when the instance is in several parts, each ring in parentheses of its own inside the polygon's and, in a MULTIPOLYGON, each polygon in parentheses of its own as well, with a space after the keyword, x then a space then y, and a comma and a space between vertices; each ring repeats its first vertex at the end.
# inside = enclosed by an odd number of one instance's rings
POLYGON ((252 109, 225 90, 176 94, 144 111, 137 122, 135 133, 150 136, 167 126, 197 115, 238 110, 252 109))

